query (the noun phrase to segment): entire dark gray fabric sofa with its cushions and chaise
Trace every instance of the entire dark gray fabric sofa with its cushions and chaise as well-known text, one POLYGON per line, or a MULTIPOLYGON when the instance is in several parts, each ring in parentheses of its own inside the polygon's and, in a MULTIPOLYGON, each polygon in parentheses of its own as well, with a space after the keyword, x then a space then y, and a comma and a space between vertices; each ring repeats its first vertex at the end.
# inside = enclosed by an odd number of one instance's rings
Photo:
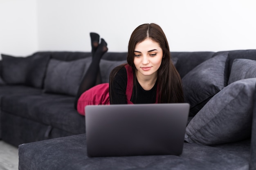
MULTIPOLYGON (((6 75, 11 73, 7 63, 18 59, 2 55, 1 136, 19 145, 19 169, 255 169, 256 50, 171 56, 182 77, 185 102, 191 105, 182 155, 88 158, 85 117, 74 109, 74 95, 90 53, 38 52, 19 58, 25 78, 18 83, 6 75)), ((103 82, 125 60, 126 53, 106 53, 103 82)))

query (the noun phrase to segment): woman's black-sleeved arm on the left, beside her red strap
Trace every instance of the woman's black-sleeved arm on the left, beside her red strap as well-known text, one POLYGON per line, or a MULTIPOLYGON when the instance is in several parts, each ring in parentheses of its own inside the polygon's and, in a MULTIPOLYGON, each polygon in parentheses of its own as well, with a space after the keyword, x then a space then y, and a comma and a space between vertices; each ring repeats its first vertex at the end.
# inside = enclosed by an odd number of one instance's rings
POLYGON ((110 104, 127 104, 126 86, 127 86, 127 73, 126 68, 114 68, 110 77, 110 104), (117 69, 117 70, 115 70, 117 69), (116 72, 116 74, 115 74, 116 72))

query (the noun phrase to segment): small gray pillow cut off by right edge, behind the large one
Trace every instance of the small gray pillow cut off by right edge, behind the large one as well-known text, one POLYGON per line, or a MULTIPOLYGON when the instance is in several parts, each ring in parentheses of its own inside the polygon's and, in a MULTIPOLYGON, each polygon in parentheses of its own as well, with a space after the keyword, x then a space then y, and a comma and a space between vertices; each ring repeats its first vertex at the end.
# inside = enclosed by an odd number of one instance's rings
POLYGON ((256 61, 249 59, 235 59, 233 61, 228 84, 240 79, 256 77, 256 61))

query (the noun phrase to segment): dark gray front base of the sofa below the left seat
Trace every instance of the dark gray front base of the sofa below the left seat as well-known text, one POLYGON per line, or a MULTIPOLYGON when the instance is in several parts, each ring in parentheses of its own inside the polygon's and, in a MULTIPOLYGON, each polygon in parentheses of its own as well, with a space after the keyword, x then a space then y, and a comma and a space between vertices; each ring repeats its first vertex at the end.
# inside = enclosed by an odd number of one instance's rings
POLYGON ((27 117, 12 115, 5 111, 1 111, 1 119, 2 140, 16 147, 29 142, 78 134, 27 119, 27 117))

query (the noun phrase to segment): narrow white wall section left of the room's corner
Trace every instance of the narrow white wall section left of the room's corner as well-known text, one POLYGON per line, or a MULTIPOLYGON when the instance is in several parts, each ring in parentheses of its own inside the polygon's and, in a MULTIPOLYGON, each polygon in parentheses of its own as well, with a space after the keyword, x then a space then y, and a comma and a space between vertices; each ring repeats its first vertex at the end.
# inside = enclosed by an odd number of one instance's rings
POLYGON ((0 53, 25 56, 38 50, 36 0, 0 0, 0 53))

